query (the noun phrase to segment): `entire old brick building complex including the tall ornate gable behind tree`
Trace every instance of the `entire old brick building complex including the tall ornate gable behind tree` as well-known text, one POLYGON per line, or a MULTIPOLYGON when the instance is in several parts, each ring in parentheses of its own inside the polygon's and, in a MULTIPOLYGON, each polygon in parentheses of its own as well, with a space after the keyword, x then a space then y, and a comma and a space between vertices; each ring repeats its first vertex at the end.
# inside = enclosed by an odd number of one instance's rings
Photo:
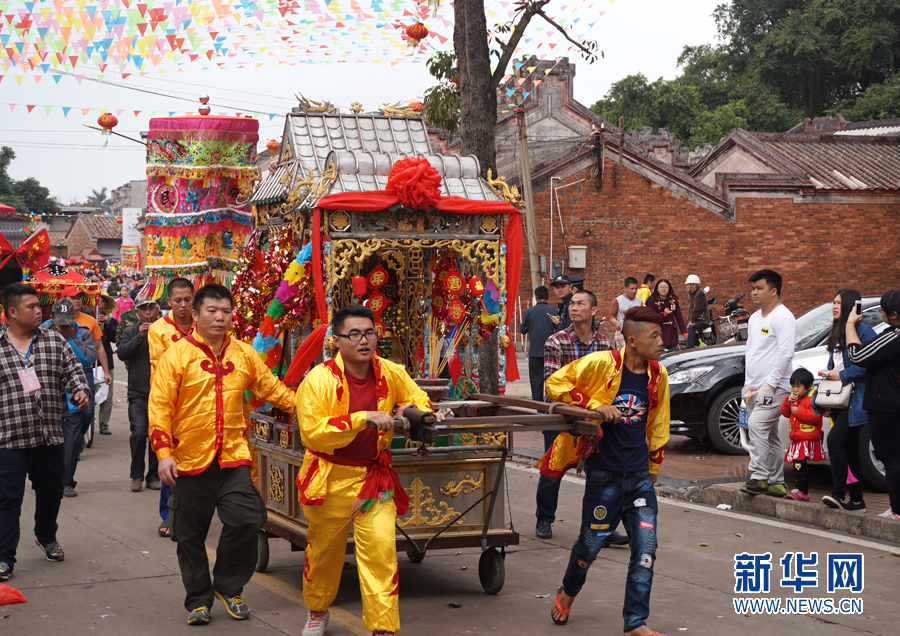
MULTIPOLYGON (((795 313, 843 286, 900 287, 900 120, 738 129, 693 150, 665 129, 626 131, 620 142, 616 125, 574 98, 566 58, 518 68, 544 281, 583 276, 604 311, 626 276, 648 272, 681 295, 697 274, 724 300, 747 291, 753 271, 776 269, 795 313), (568 248, 578 246, 586 267, 570 268, 568 248)), ((519 186, 521 116, 501 106, 496 128, 498 172, 519 186)), ((433 146, 458 152, 457 136, 430 132, 433 146)), ((527 254, 519 289, 526 307, 527 254)))

